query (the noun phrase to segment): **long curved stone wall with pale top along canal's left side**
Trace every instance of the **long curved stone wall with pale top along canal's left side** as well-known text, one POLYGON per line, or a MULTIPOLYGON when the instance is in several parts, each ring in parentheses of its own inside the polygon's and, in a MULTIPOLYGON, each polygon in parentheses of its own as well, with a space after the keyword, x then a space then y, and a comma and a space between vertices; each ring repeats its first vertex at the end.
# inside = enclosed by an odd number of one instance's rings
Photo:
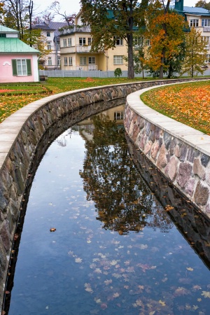
MULTIPOLYGON (((197 79, 193 79, 197 80, 197 79)), ((107 85, 84 90, 64 92, 45 97, 28 104, 0 125, 0 302, 3 304, 3 292, 6 283, 10 251, 13 241, 18 237, 15 228, 18 223, 23 193, 30 174, 29 168, 33 162, 34 153, 43 135, 55 121, 68 113, 90 106, 87 113, 81 116, 85 119, 102 111, 99 102, 109 102, 126 97, 128 94, 153 85, 164 85, 183 80, 158 80, 122 85, 107 85), (94 104, 94 110, 91 109, 94 104), (85 117, 85 115, 87 115, 85 117), (15 236, 15 237, 14 237, 15 236)), ((108 106, 108 103, 107 103, 108 106)), ((132 110, 130 109, 130 113, 132 110)), ((130 114, 127 111, 127 118, 130 114)), ((129 121, 127 119, 127 122, 129 121)), ((132 126, 132 124, 131 124, 132 126)), ((127 125, 128 128, 128 125, 127 125)), ((202 158, 202 160, 204 159, 202 158)), ((198 167, 199 167, 198 163, 198 167)), ((202 171, 197 171, 202 172, 202 171)), ((203 186, 200 185, 200 190, 203 186)))

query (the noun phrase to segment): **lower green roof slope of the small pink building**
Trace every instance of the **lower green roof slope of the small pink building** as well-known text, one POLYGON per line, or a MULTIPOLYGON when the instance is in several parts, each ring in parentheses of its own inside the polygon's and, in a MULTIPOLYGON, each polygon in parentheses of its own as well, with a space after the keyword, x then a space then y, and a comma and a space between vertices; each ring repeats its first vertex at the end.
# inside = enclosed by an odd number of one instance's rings
POLYGON ((28 52, 38 54, 38 50, 31 48, 29 45, 20 41, 19 38, 0 37, 0 53, 2 52, 28 52))

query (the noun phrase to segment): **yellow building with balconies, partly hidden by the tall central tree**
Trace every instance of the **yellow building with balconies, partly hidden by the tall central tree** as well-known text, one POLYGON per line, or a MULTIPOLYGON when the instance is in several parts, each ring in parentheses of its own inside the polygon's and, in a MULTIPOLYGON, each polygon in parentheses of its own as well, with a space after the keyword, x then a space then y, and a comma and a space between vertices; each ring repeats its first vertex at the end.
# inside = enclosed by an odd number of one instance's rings
POLYGON ((62 70, 102 70, 114 71, 120 68, 127 70, 123 59, 127 55, 125 40, 116 38, 116 48, 102 52, 90 52, 92 37, 90 27, 83 25, 81 14, 75 19, 75 26, 60 32, 60 55, 62 70))

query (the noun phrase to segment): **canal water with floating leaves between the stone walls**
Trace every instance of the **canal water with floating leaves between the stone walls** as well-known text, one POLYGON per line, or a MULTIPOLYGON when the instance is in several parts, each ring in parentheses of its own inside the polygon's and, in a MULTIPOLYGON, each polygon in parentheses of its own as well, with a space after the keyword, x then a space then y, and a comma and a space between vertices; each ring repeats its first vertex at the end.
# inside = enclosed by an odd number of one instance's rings
POLYGON ((111 115, 49 143, 6 314, 209 314, 209 223, 126 139, 121 109, 111 115))

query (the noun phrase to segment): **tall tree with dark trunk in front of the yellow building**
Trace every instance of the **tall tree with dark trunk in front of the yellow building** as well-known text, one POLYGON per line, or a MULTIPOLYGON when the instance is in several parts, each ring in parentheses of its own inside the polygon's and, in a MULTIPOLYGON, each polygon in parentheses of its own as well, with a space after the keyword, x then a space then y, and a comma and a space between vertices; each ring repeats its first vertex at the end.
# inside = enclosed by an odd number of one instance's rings
POLYGON ((134 78, 133 34, 144 16, 148 0, 81 0, 83 22, 91 27, 92 50, 116 46, 116 38, 127 43, 128 78, 134 78))

